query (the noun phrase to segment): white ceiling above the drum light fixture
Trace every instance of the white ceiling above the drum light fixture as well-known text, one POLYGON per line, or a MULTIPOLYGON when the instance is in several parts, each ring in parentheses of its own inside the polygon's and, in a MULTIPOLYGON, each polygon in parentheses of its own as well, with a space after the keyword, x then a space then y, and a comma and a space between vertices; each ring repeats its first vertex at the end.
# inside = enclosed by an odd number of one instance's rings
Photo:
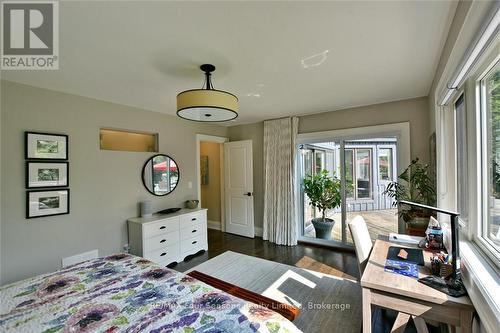
POLYGON ((60 69, 2 77, 174 115, 176 95, 201 87, 198 66, 213 63, 215 88, 240 99, 236 123, 331 111, 426 96, 455 8, 60 2, 60 69))

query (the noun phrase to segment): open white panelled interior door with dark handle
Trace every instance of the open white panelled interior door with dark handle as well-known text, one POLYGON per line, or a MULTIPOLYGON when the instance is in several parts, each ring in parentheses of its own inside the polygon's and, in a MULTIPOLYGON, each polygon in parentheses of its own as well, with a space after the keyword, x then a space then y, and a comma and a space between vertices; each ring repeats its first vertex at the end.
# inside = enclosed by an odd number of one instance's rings
POLYGON ((224 159, 226 232, 253 238, 252 141, 224 143, 224 159))

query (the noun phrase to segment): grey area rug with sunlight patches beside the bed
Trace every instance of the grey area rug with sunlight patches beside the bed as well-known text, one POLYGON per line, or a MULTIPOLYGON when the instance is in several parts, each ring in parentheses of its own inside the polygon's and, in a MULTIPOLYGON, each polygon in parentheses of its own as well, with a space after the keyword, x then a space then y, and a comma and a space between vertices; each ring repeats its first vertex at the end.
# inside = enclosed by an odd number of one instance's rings
POLYGON ((232 251, 191 270, 299 307, 293 323, 303 332, 361 330, 361 287, 355 280, 232 251))

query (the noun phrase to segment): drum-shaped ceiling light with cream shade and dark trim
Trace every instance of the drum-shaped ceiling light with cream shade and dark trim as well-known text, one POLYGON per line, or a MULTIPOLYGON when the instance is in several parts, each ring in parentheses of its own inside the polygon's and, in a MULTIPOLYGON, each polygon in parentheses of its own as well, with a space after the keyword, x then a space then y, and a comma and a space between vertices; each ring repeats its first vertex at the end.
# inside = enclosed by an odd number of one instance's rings
POLYGON ((210 80, 215 66, 204 64, 202 89, 192 89, 177 95, 177 115, 183 119, 202 122, 229 121, 238 117, 238 97, 227 91, 216 90, 210 80))

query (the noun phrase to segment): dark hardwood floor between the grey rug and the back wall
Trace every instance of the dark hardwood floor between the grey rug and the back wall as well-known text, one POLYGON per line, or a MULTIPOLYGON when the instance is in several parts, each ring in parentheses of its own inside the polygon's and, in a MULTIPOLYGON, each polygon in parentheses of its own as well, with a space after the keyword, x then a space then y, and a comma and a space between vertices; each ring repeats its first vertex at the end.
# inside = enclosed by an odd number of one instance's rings
POLYGON ((184 272, 226 251, 239 252, 337 276, 359 277, 354 252, 305 244, 280 246, 259 237, 252 239, 212 229, 208 229, 207 252, 189 256, 184 262, 178 263, 172 268, 184 272))

